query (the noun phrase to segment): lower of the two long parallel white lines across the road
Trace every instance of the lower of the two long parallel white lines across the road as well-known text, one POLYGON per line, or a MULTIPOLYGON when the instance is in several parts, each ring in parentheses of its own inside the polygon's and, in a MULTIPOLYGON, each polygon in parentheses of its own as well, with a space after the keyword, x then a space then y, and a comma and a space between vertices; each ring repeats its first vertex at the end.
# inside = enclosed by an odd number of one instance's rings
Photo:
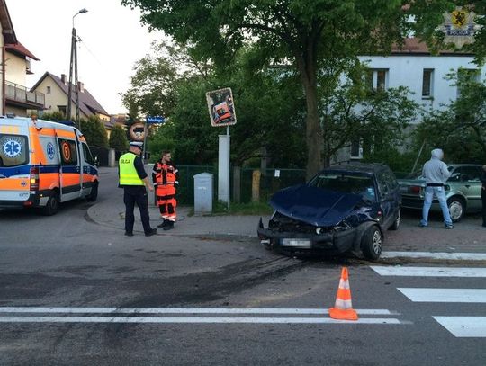
POLYGON ((0 317, 0 323, 409 324, 391 317, 356 321, 330 317, 0 317))

